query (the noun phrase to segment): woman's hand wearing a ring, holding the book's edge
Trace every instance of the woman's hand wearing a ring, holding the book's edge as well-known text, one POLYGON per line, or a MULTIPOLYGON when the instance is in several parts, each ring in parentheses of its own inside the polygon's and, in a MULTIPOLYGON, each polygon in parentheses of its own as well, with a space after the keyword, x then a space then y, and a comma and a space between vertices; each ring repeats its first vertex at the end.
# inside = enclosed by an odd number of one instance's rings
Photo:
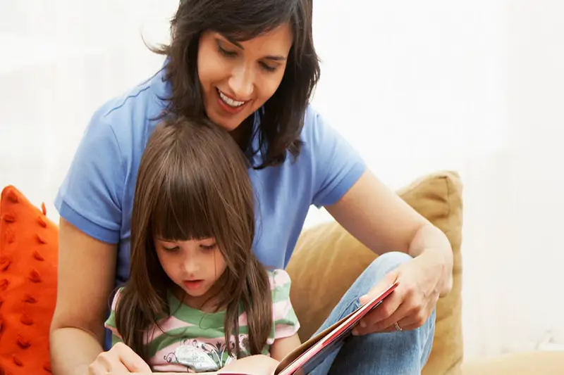
POLYGON ((443 284, 450 282, 445 280, 452 277, 447 272, 443 257, 433 251, 423 252, 389 272, 367 295, 360 298, 360 303, 364 305, 372 300, 395 281, 399 282, 398 287, 362 319, 353 334, 419 328, 434 311, 443 284))

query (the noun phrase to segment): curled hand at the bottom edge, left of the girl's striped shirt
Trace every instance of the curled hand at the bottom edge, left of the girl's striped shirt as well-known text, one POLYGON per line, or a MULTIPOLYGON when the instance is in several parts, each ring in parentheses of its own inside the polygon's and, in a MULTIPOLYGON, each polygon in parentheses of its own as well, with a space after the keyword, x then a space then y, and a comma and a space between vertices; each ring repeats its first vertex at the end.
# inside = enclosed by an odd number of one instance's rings
POLYGON ((152 374, 142 358, 124 343, 117 343, 107 352, 101 352, 88 366, 87 375, 152 374))

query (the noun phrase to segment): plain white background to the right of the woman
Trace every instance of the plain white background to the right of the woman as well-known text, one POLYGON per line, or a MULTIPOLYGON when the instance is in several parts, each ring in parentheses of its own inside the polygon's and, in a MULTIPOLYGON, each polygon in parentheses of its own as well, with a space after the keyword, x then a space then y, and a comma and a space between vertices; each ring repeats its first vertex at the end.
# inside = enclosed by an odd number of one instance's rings
POLYGON ((562 350, 564 3, 324 4, 317 106, 394 188, 462 176, 465 355, 562 350))

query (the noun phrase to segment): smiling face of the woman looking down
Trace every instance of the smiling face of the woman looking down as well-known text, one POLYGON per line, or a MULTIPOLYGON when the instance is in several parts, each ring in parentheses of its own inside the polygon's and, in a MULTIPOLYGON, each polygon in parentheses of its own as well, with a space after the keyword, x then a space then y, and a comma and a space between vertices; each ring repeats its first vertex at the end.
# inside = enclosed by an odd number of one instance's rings
POLYGON ((197 66, 209 119, 231 132, 269 100, 282 81, 291 46, 288 24, 246 42, 202 33, 197 66))

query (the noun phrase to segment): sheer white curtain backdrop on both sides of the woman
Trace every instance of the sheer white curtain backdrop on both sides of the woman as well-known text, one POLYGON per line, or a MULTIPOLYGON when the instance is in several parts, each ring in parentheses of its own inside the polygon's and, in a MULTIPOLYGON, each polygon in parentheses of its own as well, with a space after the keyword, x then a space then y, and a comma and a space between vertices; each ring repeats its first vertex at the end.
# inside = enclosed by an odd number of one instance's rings
MULTIPOLYGON (((0 2, 0 186, 52 201, 92 112, 157 70, 178 0, 0 2)), ((562 349, 564 4, 314 4, 326 119, 393 188, 465 184, 467 357, 562 349)), ((306 225, 329 220, 311 210, 306 225)))

